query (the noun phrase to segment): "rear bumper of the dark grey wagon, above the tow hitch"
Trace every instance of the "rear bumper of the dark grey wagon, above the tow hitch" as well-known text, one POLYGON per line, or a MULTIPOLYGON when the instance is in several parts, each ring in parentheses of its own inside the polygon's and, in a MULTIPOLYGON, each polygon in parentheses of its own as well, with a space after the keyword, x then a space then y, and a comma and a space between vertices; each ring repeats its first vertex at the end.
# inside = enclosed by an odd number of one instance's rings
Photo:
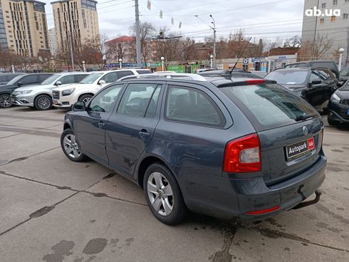
MULTIPOLYGON (((325 179, 327 159, 321 157, 306 171, 285 182, 266 187, 264 179, 225 179, 191 172, 180 182, 184 199, 192 211, 222 219, 259 221, 292 209, 321 187, 325 179), (204 176, 204 177, 203 177, 204 176), (201 180, 201 182, 199 182, 201 180), (248 215, 246 212, 271 209, 267 214, 248 215)), ((182 174, 181 174, 182 173, 182 174)))

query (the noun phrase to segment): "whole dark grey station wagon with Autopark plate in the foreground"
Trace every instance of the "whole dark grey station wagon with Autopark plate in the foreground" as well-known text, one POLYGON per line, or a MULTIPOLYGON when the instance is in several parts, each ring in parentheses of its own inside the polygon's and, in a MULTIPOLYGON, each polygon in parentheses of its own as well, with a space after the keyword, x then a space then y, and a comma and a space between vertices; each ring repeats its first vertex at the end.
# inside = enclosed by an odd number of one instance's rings
POLYGON ((256 221, 314 204, 322 141, 318 112, 275 81, 195 74, 125 77, 75 103, 61 135, 66 157, 137 183, 165 224, 187 209, 256 221))

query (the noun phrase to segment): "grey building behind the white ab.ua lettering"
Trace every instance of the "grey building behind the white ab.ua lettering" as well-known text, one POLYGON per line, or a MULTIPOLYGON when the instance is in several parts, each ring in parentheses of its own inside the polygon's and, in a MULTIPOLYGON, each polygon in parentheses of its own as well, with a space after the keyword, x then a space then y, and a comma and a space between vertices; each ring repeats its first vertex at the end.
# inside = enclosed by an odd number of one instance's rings
POLYGON ((328 58, 344 48, 343 66, 349 65, 349 0, 304 1, 302 43, 313 43, 319 36, 330 40, 328 58))

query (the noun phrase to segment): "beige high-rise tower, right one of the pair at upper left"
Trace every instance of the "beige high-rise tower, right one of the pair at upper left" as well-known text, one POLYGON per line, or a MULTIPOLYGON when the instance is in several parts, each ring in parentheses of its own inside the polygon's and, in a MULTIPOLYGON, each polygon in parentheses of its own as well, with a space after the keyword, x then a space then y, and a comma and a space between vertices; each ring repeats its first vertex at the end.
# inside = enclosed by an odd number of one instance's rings
POLYGON ((60 0, 51 2, 59 50, 80 48, 99 34, 97 1, 60 0), (72 39, 72 41, 71 41, 72 39))

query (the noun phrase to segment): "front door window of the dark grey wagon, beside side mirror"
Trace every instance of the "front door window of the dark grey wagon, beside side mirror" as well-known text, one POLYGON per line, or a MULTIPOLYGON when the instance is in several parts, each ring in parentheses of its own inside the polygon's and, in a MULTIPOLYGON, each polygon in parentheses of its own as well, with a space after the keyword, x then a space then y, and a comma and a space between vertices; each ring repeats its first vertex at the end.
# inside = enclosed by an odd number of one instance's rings
POLYGON ((88 111, 110 112, 113 110, 121 88, 123 88, 123 85, 112 85, 95 95, 88 106, 88 111))

